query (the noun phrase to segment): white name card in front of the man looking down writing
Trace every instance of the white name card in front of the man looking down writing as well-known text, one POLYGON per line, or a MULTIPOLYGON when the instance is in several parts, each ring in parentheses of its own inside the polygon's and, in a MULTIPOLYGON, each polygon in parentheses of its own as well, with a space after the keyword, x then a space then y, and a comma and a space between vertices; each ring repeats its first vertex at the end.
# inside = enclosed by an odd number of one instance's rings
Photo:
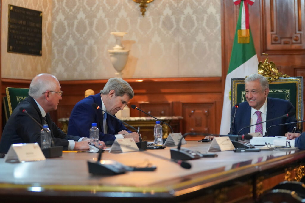
POLYGON ((113 142, 110 153, 119 153, 119 152, 133 152, 139 151, 137 144, 133 138, 121 138, 115 139, 113 142))

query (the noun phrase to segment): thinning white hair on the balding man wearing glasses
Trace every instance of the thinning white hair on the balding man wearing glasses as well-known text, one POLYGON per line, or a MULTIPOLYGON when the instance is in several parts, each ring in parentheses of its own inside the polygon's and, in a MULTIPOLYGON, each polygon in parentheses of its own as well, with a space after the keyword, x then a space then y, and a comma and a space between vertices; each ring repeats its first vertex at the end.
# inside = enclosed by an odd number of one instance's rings
POLYGON ((55 76, 47 73, 41 73, 34 77, 30 83, 29 95, 33 98, 39 98, 47 90, 55 91, 58 80, 55 76))

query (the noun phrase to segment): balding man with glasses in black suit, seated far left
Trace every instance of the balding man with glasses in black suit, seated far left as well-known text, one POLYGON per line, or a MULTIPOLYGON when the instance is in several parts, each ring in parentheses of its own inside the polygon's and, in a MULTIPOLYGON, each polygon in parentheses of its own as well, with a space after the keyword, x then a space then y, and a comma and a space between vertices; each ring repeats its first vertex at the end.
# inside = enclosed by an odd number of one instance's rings
MULTIPOLYGON (((6 153, 9 147, 15 143, 38 142, 40 145, 41 127, 23 113, 23 109, 41 125, 48 124, 55 146, 63 146, 64 150, 88 150, 87 138, 66 135, 51 120, 48 112, 57 109, 62 94, 59 82, 53 75, 39 74, 34 77, 30 83, 29 96, 17 105, 5 124, 0 141, 0 152, 6 153)), ((99 143, 102 148, 106 149, 104 142, 99 141, 99 143)))

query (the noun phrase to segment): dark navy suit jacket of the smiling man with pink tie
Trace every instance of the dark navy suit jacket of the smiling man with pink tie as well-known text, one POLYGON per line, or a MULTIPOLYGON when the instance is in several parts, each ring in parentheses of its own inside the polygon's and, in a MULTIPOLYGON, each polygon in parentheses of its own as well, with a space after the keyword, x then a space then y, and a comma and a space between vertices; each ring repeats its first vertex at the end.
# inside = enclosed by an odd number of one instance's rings
MULTIPOLYGON (((233 117, 234 111, 235 111, 235 107, 233 107, 231 110, 231 117, 233 117)), ((280 117, 284 114, 287 114, 289 111, 295 111, 290 101, 267 97, 267 117, 266 117, 267 121, 272 118, 280 117)), ((251 120, 251 107, 249 106, 248 102, 240 103, 239 107, 236 110, 234 123, 232 125, 232 134, 236 135, 241 128, 249 126, 250 120, 251 120)), ((290 117, 282 117, 267 122, 266 129, 271 125, 284 124, 295 121, 296 121, 295 115, 290 117)), ((294 126, 296 126, 296 124, 274 126, 269 128, 267 135, 273 137, 285 136, 286 132, 292 132, 294 126)), ((249 132, 250 132, 250 128, 245 128, 239 134, 242 135, 249 132)))

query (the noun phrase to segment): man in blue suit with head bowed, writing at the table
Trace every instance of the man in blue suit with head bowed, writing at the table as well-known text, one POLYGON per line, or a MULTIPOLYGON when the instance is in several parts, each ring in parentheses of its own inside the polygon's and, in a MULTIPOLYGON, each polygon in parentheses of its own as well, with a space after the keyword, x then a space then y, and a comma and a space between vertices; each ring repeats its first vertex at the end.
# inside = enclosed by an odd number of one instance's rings
POLYGON ((133 96, 134 91, 128 82, 119 78, 109 79, 100 93, 88 96, 74 106, 69 119, 68 134, 89 137, 91 124, 97 123, 99 139, 106 145, 112 144, 116 138, 133 138, 135 142, 139 142, 137 132, 129 131, 118 119, 92 107, 96 103, 114 115, 123 110, 133 96))

